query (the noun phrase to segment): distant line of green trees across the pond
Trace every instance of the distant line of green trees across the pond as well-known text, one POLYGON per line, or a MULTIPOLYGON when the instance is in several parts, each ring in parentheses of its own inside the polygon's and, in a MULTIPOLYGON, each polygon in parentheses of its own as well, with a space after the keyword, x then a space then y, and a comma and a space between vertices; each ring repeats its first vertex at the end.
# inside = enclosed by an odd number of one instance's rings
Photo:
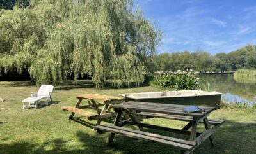
POLYGON ((177 71, 193 69, 200 73, 223 72, 237 69, 256 69, 256 45, 246 45, 229 53, 210 55, 208 52, 162 53, 152 57, 152 71, 177 71))

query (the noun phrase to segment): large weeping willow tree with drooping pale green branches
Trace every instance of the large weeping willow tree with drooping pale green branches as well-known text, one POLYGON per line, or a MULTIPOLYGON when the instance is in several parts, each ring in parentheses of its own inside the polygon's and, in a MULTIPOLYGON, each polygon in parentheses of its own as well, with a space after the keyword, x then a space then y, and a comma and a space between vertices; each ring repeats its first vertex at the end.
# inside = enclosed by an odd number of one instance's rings
POLYGON ((92 77, 141 82, 161 32, 132 0, 31 1, 0 11, 0 67, 29 71, 37 84, 92 77))

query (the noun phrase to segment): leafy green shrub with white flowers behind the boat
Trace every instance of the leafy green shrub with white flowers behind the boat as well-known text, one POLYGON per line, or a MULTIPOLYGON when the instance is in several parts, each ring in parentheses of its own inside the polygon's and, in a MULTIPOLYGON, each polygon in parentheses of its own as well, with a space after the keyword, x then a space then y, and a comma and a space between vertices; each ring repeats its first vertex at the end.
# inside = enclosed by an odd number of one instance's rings
POLYGON ((191 72, 177 71, 157 75, 153 84, 166 90, 194 90, 199 88, 200 80, 191 72))

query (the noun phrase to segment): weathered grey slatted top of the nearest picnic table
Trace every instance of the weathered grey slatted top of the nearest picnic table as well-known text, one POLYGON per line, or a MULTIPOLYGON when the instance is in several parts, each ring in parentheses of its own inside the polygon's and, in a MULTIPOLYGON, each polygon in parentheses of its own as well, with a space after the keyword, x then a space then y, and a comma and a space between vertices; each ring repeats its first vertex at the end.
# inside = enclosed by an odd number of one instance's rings
POLYGON ((184 113, 184 109, 188 108, 189 106, 185 105, 176 105, 176 104, 159 104, 159 103, 150 103, 150 102, 123 102, 120 104, 112 105, 113 108, 119 109, 132 109, 136 111, 145 111, 151 113, 164 113, 170 115, 182 115, 182 116, 193 116, 193 117, 202 117, 205 116, 211 111, 213 111, 214 107, 207 107, 207 106, 199 106, 200 108, 204 108, 205 111, 200 113, 184 113))

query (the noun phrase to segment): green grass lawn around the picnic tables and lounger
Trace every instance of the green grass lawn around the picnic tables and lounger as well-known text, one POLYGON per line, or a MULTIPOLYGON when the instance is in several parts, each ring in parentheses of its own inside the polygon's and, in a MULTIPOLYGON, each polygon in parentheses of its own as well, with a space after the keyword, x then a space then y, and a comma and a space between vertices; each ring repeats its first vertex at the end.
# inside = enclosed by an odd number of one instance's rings
MULTIPOLYGON (((113 148, 106 146, 108 133, 97 134, 92 126, 95 120, 74 122, 67 120, 69 112, 61 106, 74 106, 76 94, 95 93, 117 96, 124 92, 156 91, 154 87, 137 87, 98 90, 90 81, 81 81, 57 87, 53 100, 60 101, 40 109, 22 109, 22 99, 38 87, 26 81, 0 82, 0 153, 180 153, 179 150, 161 144, 140 141, 116 135, 113 148)), ((79 116, 79 115, 75 115, 79 116)), ((225 120, 215 132, 216 147, 212 148, 207 139, 196 148, 195 153, 255 153, 256 111, 219 109, 210 118, 225 120)), ((111 120, 106 120, 108 123, 111 120)), ((146 123, 182 128, 185 122, 163 119, 148 119, 146 123)), ((203 128, 203 126, 200 126, 203 128)), ((146 129, 148 132, 177 136, 168 132, 146 129)), ((186 138, 181 136, 180 138, 186 138)))

